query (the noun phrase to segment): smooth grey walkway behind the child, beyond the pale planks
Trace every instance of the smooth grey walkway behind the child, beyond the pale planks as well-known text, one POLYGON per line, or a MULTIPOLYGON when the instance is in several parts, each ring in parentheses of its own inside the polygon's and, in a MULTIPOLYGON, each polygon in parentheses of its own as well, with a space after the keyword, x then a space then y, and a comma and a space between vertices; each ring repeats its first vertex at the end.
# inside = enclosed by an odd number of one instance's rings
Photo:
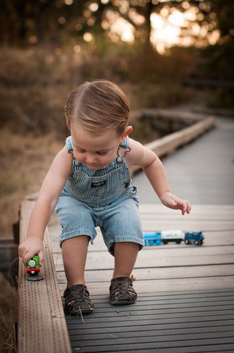
MULTIPOLYGON (((162 159, 171 192, 191 204, 234 204, 234 118, 162 159)), ((140 202, 160 203, 143 172, 133 177, 140 202)))

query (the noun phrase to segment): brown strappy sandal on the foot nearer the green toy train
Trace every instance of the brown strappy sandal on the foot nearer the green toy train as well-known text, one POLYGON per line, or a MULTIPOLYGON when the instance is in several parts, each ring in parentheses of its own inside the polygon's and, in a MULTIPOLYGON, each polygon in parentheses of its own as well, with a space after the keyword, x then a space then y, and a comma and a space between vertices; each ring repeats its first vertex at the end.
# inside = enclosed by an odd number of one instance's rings
POLYGON ((83 284, 76 284, 66 288, 63 294, 65 298, 64 309, 67 314, 79 315, 81 312, 94 311, 94 304, 90 300, 90 293, 83 284))

